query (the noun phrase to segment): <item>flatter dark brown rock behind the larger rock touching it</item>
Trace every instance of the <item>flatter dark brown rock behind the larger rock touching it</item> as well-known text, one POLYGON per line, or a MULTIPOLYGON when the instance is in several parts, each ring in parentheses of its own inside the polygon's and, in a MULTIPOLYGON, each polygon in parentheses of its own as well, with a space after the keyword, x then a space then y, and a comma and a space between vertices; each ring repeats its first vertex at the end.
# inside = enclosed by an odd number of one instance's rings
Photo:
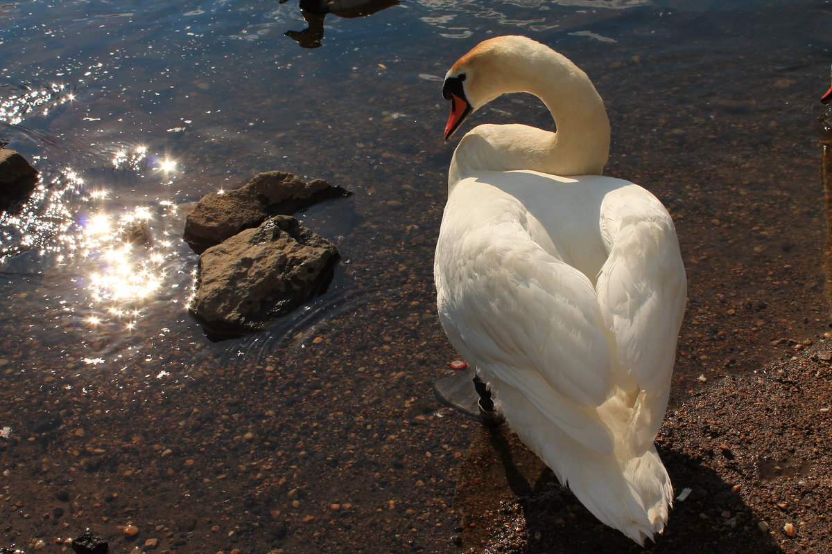
POLYGON ((201 253, 272 216, 289 215, 322 200, 345 196, 349 192, 324 179, 307 183, 290 173, 268 171, 240 189, 206 194, 188 214, 185 240, 201 253))

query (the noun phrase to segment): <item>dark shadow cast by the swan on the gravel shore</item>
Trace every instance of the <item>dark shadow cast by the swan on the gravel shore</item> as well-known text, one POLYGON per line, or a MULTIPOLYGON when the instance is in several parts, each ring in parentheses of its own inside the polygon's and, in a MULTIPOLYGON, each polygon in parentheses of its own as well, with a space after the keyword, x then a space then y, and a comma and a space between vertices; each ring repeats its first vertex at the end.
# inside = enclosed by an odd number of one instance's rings
MULTIPOLYGON (((693 492, 684 502, 675 501, 665 532, 654 544, 646 543, 647 551, 783 552, 769 533, 760 532, 751 508, 715 471, 701 460, 657 447, 676 483, 674 494, 687 485, 693 492)), ((453 507, 460 517, 454 542, 472 552, 645 552, 599 522, 506 425, 478 428, 460 468, 453 507)))

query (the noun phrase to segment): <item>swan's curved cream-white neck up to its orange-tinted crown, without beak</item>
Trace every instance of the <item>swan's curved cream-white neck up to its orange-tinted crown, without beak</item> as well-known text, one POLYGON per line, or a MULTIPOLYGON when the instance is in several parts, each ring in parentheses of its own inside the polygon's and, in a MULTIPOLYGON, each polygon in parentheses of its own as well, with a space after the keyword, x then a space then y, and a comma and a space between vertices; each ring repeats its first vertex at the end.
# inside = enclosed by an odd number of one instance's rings
POLYGON ((469 63, 476 65, 478 82, 472 83, 472 104, 477 109, 503 94, 528 92, 547 106, 557 133, 527 125, 479 125, 460 141, 454 152, 458 167, 452 163, 451 174, 457 179, 477 169, 602 174, 610 148, 610 124, 587 74, 567 57, 531 39, 501 39, 473 52, 469 63))

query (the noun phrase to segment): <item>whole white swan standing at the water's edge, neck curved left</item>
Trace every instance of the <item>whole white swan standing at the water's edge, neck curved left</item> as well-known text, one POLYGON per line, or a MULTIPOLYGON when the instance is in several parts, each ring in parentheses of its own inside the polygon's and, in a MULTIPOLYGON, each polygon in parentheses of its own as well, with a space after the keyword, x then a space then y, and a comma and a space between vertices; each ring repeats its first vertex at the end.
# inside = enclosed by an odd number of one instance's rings
POLYGON ((498 411, 598 519, 642 544, 672 488, 653 440, 670 390, 686 277, 670 215, 602 177, 610 128, 587 75, 525 37, 448 71, 445 138, 530 92, 557 133, 479 125, 459 142, 436 247, 439 319, 498 411), (572 175, 561 177, 558 175, 572 175))

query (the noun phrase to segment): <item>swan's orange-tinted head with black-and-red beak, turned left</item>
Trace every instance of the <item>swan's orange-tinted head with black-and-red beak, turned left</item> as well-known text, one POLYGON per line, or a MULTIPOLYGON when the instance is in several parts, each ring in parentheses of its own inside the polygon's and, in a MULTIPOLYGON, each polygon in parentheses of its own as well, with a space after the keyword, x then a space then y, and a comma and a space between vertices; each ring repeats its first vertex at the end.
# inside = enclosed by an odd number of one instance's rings
POLYGON ((494 37, 480 42, 453 64, 442 87, 451 101, 445 140, 468 115, 507 92, 526 90, 528 67, 541 54, 553 52, 527 37, 494 37))

